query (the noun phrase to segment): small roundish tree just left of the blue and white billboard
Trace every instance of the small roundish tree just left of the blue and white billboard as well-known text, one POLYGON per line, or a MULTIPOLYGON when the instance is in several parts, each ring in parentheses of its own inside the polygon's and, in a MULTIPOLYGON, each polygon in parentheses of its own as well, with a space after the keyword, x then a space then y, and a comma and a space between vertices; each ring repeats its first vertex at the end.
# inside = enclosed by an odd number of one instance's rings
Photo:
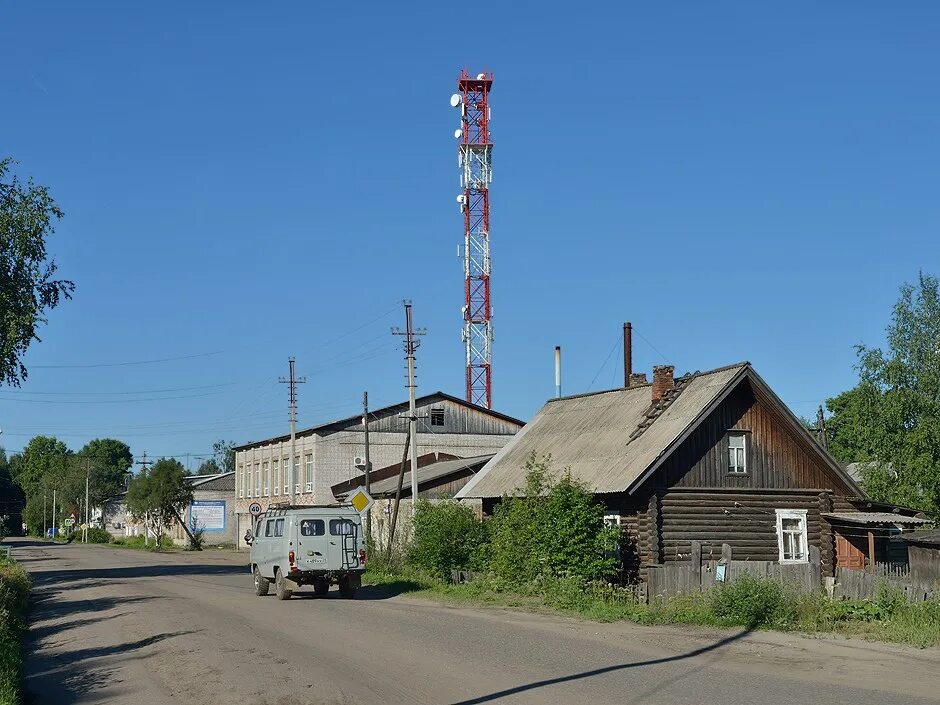
POLYGON ((181 512, 193 501, 193 488, 182 463, 161 458, 131 480, 126 501, 131 516, 146 524, 159 546, 167 529, 181 520, 181 512))

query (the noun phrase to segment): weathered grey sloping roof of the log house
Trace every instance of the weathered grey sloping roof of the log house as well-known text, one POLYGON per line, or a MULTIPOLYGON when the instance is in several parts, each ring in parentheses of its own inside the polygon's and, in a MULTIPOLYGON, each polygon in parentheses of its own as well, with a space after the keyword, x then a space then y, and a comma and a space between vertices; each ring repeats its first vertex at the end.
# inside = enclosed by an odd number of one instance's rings
POLYGON ((748 362, 676 380, 681 391, 664 407, 650 403, 651 385, 582 394, 547 402, 457 497, 500 497, 525 485, 531 453, 551 454, 553 466, 597 493, 633 491, 698 424, 747 377, 823 457, 830 471, 861 496, 860 488, 808 435, 748 362))

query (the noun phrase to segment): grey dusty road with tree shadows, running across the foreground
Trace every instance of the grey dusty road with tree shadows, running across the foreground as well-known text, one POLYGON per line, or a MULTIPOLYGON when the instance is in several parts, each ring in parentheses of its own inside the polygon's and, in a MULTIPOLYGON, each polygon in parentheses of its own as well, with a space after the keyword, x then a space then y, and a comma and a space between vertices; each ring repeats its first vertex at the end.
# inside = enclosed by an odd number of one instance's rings
POLYGON ((940 651, 441 606, 255 597, 244 554, 14 540, 33 705, 928 703, 940 651))

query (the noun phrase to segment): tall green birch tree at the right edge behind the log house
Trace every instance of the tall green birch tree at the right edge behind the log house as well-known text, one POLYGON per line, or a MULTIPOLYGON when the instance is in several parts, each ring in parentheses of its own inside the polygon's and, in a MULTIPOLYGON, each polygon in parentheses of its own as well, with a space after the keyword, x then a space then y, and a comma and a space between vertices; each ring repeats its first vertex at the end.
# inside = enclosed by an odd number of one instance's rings
MULTIPOLYGON (((866 491, 875 499, 940 515, 940 286, 920 273, 904 284, 887 329, 887 349, 858 347, 860 384, 843 416, 866 491)), ((844 395, 843 395, 844 396, 844 395)))

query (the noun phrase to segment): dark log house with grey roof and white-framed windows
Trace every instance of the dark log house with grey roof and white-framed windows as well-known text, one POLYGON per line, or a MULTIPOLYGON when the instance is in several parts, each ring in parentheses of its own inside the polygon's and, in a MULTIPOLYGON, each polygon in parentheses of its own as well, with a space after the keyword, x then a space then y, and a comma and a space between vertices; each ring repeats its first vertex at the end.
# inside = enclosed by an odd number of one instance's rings
POLYGON ((458 492, 485 513, 525 484, 531 453, 551 454, 623 529, 624 570, 687 560, 692 541, 717 557, 805 562, 825 575, 891 560, 891 538, 925 523, 868 501, 747 362, 652 384, 553 399, 458 492))

